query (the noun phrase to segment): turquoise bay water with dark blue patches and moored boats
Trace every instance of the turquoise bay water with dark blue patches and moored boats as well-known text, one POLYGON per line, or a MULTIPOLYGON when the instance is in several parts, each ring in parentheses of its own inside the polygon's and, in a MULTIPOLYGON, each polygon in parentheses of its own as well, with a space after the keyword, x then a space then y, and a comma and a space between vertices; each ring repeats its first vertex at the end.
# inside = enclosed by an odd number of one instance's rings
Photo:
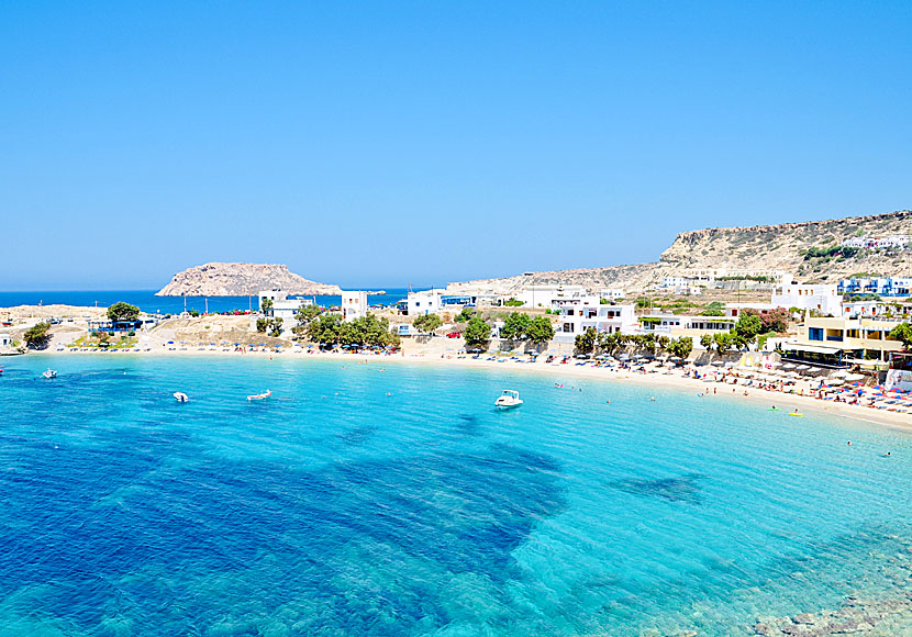
POLYGON ((0 365, 0 636, 727 636, 859 604, 912 634, 902 431, 559 368, 0 365))

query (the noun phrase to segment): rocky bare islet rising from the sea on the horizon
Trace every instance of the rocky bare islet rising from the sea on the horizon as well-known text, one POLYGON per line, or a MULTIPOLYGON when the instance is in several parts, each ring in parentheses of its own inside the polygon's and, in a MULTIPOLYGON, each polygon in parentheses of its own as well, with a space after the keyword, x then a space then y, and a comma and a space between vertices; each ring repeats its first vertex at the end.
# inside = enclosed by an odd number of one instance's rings
POLYGON ((289 294, 341 294, 338 286, 316 283, 277 264, 205 264, 178 272, 158 297, 246 297, 280 289, 289 294))

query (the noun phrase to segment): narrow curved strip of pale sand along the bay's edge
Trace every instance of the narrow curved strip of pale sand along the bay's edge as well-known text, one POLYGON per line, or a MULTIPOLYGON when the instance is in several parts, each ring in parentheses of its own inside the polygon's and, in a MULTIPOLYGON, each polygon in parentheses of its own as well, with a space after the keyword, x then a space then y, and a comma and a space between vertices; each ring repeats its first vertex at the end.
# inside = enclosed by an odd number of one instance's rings
MULTIPOLYGON (((40 357, 56 356, 65 357, 70 355, 89 355, 89 356, 105 356, 110 357, 110 351, 32 351, 30 354, 40 357)), ((408 353, 402 355, 376 355, 376 354, 347 354, 334 351, 321 351, 308 354, 307 349, 286 350, 281 353, 275 351, 224 351, 210 349, 188 349, 188 350, 149 350, 149 351, 134 351, 121 350, 116 354, 118 357, 248 357, 268 358, 278 357, 282 360, 338 360, 338 361, 357 361, 359 364, 416 364, 416 365, 433 365, 440 367, 456 367, 470 369, 498 369, 510 372, 533 372, 533 373, 548 373, 559 375, 561 377, 580 378, 593 380, 598 382, 616 382, 616 383, 633 383, 641 387, 654 387, 657 389, 675 389, 680 391, 694 391, 697 394, 705 393, 705 389, 721 389, 722 391, 707 395, 701 400, 725 398, 734 400, 745 400, 757 404, 776 404, 781 405, 782 411, 800 410, 802 414, 814 414, 819 416, 836 416, 848 418, 853 421, 875 424, 880 426, 888 426, 890 428, 901 429, 905 432, 912 431, 912 416, 910 414, 890 412, 887 410, 877 410, 875 407, 867 407, 860 405, 850 405, 847 403, 836 403, 832 401, 823 401, 810 395, 800 395, 792 393, 785 393, 778 391, 766 391, 759 388, 744 387, 739 384, 730 384, 725 382, 708 382, 702 379, 687 378, 679 371, 672 373, 642 373, 631 370, 619 370, 616 368, 607 367, 591 367, 578 366, 572 362, 568 364, 546 364, 538 362, 516 362, 514 360, 505 359, 504 362, 499 360, 487 360, 485 358, 475 359, 471 357, 431 357, 422 354, 408 353), (729 392, 729 389, 734 391, 729 392)))

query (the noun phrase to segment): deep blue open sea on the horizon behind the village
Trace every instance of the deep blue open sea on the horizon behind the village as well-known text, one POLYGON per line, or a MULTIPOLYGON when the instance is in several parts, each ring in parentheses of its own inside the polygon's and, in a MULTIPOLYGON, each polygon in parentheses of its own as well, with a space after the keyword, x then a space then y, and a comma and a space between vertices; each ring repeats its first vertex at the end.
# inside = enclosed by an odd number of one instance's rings
MULTIPOLYGON (((183 311, 183 297, 156 297, 156 290, 103 290, 103 291, 38 291, 38 292, 0 292, 0 308, 12 308, 14 305, 51 305, 60 303, 64 305, 107 308, 119 301, 136 305, 144 312, 162 314, 176 314, 183 311)), ((367 301, 371 305, 392 305, 405 298, 407 289, 387 289, 386 294, 368 295, 367 301)), ((342 297, 324 295, 312 297, 316 303, 326 308, 338 305, 342 297)), ((233 310, 256 310, 257 299, 248 297, 187 297, 187 310, 203 312, 209 303, 210 312, 231 312, 233 310)))

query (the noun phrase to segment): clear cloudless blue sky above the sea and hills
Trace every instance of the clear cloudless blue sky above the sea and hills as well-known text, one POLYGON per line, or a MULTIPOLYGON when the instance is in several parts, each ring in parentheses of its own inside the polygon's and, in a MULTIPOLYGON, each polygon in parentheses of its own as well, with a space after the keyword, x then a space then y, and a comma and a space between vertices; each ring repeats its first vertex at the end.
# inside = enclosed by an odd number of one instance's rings
POLYGON ((2 2, 0 290, 404 287, 912 206, 909 2, 2 2))

